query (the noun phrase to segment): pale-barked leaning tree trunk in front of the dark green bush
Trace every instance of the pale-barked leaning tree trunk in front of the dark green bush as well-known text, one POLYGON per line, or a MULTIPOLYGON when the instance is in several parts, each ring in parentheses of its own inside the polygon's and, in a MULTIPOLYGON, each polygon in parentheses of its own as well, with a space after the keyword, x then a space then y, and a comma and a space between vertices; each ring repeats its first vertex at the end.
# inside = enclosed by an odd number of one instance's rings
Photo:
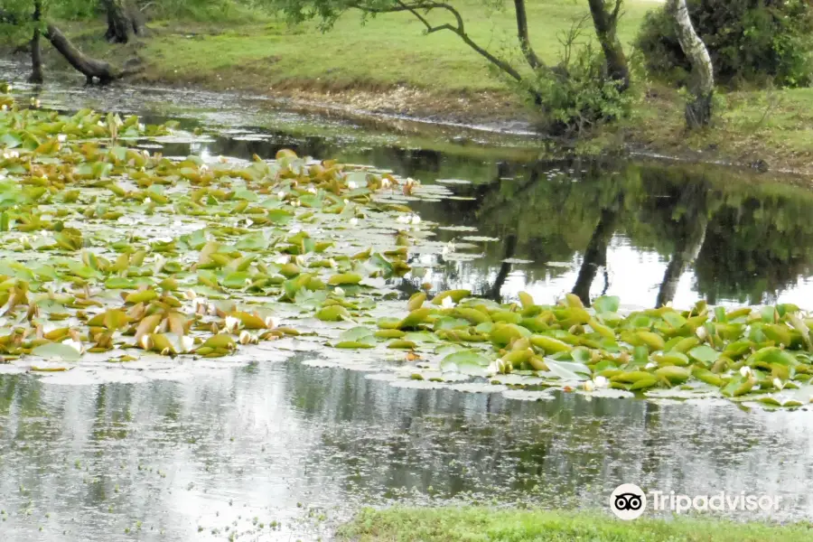
POLYGON ((692 65, 689 91, 693 99, 686 106, 686 124, 690 128, 708 126, 712 117, 715 71, 706 43, 697 35, 689 18, 686 0, 667 0, 667 11, 677 25, 677 41, 692 65))

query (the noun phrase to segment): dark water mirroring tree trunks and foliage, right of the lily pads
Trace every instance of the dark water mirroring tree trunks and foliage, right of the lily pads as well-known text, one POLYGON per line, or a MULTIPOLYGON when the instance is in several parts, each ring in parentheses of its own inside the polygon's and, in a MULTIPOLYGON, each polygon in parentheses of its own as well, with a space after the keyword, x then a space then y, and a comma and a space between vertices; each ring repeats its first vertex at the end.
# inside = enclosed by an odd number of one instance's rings
MULTIPOLYGON (((471 285, 493 297, 499 285, 502 297, 526 289, 548 301, 565 292, 585 302, 617 294, 644 307, 700 298, 810 306, 813 194, 734 174, 662 164, 534 164, 510 180, 458 191, 471 201, 419 208, 430 220, 514 238, 511 258, 533 262, 507 274, 505 243, 485 243, 478 248, 484 257, 455 266, 453 281, 437 277, 444 287, 471 285)), ((444 241, 461 237, 440 234, 444 241)))

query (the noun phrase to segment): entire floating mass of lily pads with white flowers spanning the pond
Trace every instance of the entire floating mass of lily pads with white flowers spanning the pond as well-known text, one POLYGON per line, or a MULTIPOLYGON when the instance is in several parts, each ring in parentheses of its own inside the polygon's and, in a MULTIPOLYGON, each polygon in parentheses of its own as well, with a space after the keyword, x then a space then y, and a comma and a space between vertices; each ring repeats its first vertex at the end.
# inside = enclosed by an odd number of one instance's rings
POLYGON ((813 397, 813 318, 793 304, 621 312, 612 296, 500 303, 425 283, 405 307, 397 279, 426 272, 412 256, 472 257, 431 240, 406 205, 444 186, 285 150, 170 158, 145 147, 193 137, 172 123, 61 115, 8 94, 3 107, 0 355, 19 369, 245 359, 296 336, 414 385, 769 407, 813 397))

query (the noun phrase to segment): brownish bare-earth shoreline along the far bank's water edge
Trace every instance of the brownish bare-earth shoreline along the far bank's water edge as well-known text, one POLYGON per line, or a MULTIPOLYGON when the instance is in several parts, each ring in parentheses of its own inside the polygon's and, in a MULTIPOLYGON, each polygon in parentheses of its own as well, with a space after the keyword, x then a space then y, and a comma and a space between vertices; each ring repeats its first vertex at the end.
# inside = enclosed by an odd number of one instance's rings
MULTIPOLYGON (((10 56, 10 62, 21 70, 26 69, 27 57, 20 53, 10 56)), ((111 59, 107 59, 111 60, 111 59)), ((112 59, 111 61, 117 61, 112 59)), ((120 61, 120 59, 119 59, 120 61)), ((81 77, 66 69, 61 59, 46 55, 46 65, 52 76, 73 78, 77 84, 81 77)), ((295 109, 302 109, 321 114, 338 114, 350 119, 375 119, 385 123, 408 122, 416 125, 436 126, 441 128, 460 128, 461 130, 490 135, 511 135, 528 139, 537 139, 540 145, 544 142, 554 143, 545 134, 534 129, 534 123, 528 120, 533 112, 523 109, 516 103, 517 98, 506 93, 482 92, 474 98, 431 92, 398 86, 395 89, 303 89, 300 84, 259 88, 257 84, 233 86, 235 79, 206 79, 167 77, 157 64, 147 64, 145 70, 134 76, 123 79, 126 85, 135 87, 159 86, 167 90, 209 92, 232 95, 236 98, 268 99, 295 109), (511 101, 511 100, 515 101, 511 101), (491 101, 488 108, 478 107, 484 101, 491 101), (493 105, 500 104, 499 106, 493 105)), ((51 76, 51 77, 52 77, 51 76)), ((114 85, 117 83, 113 83, 114 85)), ((673 93, 677 96, 677 91, 673 93)), ((661 97, 662 98, 662 97, 661 97)), ((682 117, 679 110, 681 102, 670 100, 667 107, 673 116, 682 117)), ((662 108, 663 103, 650 107, 662 108)), ((658 119, 660 120, 660 119, 658 119)), ((584 139, 565 142, 563 152, 575 154, 625 154, 643 159, 656 159, 684 164, 707 164, 740 169, 748 173, 779 174, 797 177, 813 176, 813 159, 808 162, 807 156, 788 156, 780 154, 780 149, 766 145, 747 145, 749 134, 734 134, 728 130, 710 128, 705 131, 688 133, 680 126, 649 126, 641 122, 634 114, 615 125, 603 126, 594 134, 584 139), (663 130, 661 128, 666 128, 663 130), (740 140, 743 141, 740 141, 740 140), (746 145, 748 153, 741 154, 729 145, 746 145), (697 148, 705 146, 706 148, 697 148), (584 153, 586 147, 587 152, 584 153), (782 165, 779 165, 782 164, 782 165)), ((561 143, 561 142, 558 142, 561 143)), ((813 140, 811 140, 813 150, 813 140)), ((805 153, 808 154, 808 153, 805 153)), ((810 154, 813 154, 811 152, 810 154)))

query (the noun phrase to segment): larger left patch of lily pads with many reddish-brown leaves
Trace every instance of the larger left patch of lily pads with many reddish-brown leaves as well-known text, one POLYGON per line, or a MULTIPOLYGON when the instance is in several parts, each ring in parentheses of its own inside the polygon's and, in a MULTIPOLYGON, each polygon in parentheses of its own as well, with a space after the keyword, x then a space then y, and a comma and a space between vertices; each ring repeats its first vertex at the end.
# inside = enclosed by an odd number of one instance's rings
POLYGON ((148 148, 192 137, 177 125, 0 103, 0 362, 220 357, 369 308, 409 270, 416 216, 373 195, 412 180, 289 150, 171 158, 148 148), (369 224, 366 249, 345 240, 369 224))

